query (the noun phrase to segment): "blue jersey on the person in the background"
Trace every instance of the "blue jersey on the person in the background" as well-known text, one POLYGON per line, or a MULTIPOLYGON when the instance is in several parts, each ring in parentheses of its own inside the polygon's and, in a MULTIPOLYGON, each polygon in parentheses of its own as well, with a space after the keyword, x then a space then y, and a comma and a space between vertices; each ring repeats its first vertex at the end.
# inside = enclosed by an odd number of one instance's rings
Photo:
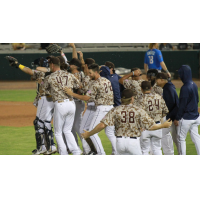
POLYGON ((144 63, 148 65, 149 69, 161 70, 162 67, 160 63, 163 62, 163 56, 158 49, 149 49, 144 58, 144 63))

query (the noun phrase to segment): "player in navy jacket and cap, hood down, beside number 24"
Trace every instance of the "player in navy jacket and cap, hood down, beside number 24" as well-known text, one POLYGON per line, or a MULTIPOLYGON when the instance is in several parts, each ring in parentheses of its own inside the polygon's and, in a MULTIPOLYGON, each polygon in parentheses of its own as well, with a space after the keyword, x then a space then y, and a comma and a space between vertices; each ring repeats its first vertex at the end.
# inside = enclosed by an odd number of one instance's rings
MULTIPOLYGON (((156 83, 158 86, 163 88, 163 99, 165 100, 165 103, 169 110, 169 113, 167 114, 164 120, 166 121, 170 118, 174 122, 179 107, 179 99, 176 92, 176 88, 171 81, 168 82, 168 77, 166 73, 158 73, 156 76, 156 83)), ((162 134, 163 135, 161 143, 163 153, 165 155, 174 155, 173 141, 176 147, 178 147, 177 128, 174 125, 174 123, 172 123, 172 126, 170 128, 164 128, 162 130, 162 134)))

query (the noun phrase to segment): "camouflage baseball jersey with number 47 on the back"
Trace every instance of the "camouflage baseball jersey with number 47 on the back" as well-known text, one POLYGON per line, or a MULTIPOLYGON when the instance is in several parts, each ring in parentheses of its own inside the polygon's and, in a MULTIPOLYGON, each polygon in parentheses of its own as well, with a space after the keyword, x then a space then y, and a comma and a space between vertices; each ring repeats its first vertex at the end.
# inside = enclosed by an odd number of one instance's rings
POLYGON ((78 89, 81 86, 79 80, 71 73, 65 72, 63 70, 56 71, 49 76, 48 81, 44 83, 44 88, 50 88, 50 94, 52 96, 53 102, 62 101, 64 99, 73 100, 72 96, 67 95, 64 92, 64 88, 75 88, 78 89))

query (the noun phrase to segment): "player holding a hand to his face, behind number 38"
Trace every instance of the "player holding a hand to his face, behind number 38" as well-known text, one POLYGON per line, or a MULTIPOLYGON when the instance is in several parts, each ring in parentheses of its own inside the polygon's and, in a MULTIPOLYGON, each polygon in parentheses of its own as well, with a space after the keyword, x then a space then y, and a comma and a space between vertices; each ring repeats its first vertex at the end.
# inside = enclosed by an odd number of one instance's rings
POLYGON ((143 81, 142 72, 139 68, 131 69, 131 73, 119 79, 119 83, 122 84, 126 89, 132 89, 136 93, 135 99, 142 95, 141 83, 143 81), (130 77, 132 77, 132 79, 129 79, 130 77))

